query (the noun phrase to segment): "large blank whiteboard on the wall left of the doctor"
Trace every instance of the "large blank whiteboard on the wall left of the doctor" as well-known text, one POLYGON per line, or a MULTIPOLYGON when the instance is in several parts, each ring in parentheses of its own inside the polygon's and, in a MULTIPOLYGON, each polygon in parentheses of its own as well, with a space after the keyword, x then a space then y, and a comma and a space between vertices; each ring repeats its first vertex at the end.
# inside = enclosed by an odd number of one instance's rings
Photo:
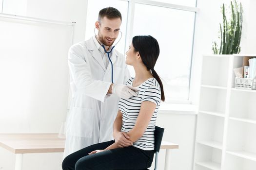
POLYGON ((54 133, 65 120, 74 26, 0 17, 0 133, 54 133))

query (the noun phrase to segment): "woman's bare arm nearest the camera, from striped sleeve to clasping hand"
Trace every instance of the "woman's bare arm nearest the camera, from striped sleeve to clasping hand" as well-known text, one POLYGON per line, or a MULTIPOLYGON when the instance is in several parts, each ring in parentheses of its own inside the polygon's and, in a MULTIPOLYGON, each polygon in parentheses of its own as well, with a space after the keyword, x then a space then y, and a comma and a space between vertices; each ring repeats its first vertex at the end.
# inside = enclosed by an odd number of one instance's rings
POLYGON ((127 134, 132 142, 137 141, 145 132, 157 105, 154 102, 141 102, 140 111, 135 126, 127 134))

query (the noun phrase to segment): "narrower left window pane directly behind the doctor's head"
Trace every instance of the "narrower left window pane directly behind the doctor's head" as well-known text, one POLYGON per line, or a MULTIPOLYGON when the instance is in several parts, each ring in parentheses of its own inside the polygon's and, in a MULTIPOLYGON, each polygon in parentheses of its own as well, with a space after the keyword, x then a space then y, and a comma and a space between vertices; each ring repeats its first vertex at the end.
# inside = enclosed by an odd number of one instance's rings
MULTIPOLYGON (((125 37, 126 37, 126 23, 127 23, 127 13, 128 13, 128 2, 121 0, 112 0, 112 1, 101 1, 100 4, 96 0, 88 1, 87 8, 87 20, 86 20, 86 31, 85 31, 85 39, 89 39, 94 35, 95 22, 98 19, 98 12, 105 7, 115 7, 117 8, 122 15, 122 24, 120 27, 120 31, 122 32, 121 40, 118 42, 118 45, 115 47, 116 50, 121 53, 125 52, 125 37)), ((98 30, 95 31, 98 34, 98 30)), ((118 36, 120 38, 120 34, 118 36)), ((116 42, 115 42, 116 43, 116 42)), ((114 44, 115 44, 114 43, 114 44)))

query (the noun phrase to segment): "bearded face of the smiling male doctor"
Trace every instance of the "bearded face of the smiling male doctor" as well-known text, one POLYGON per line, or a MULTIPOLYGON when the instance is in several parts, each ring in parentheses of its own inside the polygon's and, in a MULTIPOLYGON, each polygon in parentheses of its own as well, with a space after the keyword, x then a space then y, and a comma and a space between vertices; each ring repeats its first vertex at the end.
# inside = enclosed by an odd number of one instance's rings
POLYGON ((107 17, 103 17, 100 23, 98 21, 96 22, 98 39, 105 46, 112 46, 114 41, 118 38, 120 26, 120 18, 108 19, 107 17))

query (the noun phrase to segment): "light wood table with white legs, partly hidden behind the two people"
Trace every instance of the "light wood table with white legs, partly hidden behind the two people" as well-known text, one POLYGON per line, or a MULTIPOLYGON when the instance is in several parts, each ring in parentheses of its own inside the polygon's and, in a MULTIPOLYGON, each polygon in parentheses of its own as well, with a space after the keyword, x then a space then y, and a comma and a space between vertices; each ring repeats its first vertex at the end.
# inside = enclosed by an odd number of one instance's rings
MULTIPOLYGON (((16 154, 15 170, 22 170, 24 153, 61 153, 64 152, 65 139, 58 134, 0 134, 0 147, 16 154)), ((178 145, 162 141, 160 149, 165 149, 165 170, 170 170, 170 150, 178 145)))

